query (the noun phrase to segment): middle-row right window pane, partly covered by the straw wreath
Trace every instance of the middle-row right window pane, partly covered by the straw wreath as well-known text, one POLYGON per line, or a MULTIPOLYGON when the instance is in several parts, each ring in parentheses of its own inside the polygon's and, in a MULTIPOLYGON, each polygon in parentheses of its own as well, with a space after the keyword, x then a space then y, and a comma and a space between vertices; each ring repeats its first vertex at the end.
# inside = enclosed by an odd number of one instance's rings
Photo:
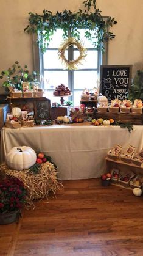
MULTIPOLYGON (((74 51, 74 60, 79 57, 79 51, 74 51)), ((87 51, 87 56, 82 60, 82 65, 78 65, 78 69, 97 68, 98 54, 97 51, 87 51)))

